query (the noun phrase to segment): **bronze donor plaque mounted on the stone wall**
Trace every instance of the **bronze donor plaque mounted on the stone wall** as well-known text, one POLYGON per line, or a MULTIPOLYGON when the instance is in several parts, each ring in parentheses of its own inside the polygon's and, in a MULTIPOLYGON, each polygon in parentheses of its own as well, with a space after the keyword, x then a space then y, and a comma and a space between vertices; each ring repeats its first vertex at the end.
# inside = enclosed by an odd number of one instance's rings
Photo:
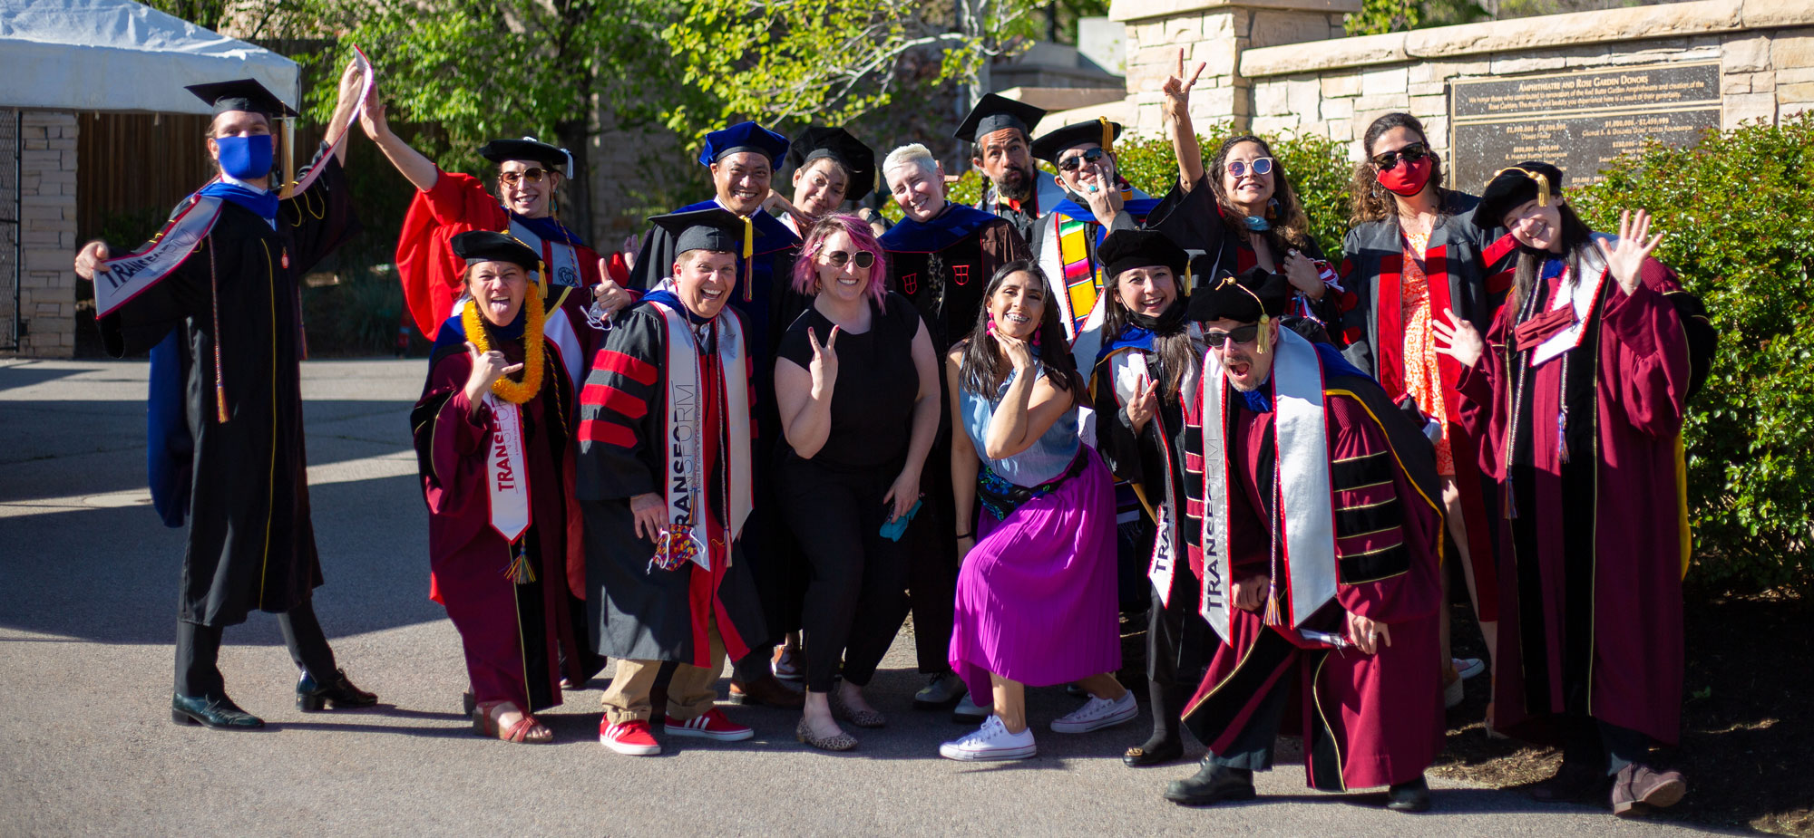
POLYGON ((1493 172, 1542 160, 1569 185, 1600 180, 1645 140, 1689 145, 1720 129, 1720 62, 1651 63, 1449 82, 1449 185, 1480 192, 1493 172))

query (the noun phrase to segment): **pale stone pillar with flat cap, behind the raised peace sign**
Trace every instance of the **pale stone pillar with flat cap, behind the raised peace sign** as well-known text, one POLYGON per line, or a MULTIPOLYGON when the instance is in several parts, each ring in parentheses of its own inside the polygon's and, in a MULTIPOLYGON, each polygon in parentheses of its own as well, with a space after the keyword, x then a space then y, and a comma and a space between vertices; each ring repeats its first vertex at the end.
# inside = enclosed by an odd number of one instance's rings
POLYGON ((1177 69, 1204 62, 1190 96, 1199 131, 1232 122, 1246 131, 1253 118, 1253 85, 1241 76, 1241 53, 1255 47, 1342 36, 1342 16, 1360 0, 1114 0, 1108 20, 1126 25, 1126 80, 1134 103, 1130 132, 1165 129, 1159 87, 1177 69))

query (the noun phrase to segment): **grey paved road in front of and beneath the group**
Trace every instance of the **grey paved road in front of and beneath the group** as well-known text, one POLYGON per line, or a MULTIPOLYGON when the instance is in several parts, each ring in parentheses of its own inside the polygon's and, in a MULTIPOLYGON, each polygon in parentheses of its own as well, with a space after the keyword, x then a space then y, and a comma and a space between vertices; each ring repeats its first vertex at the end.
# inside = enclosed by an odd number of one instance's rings
MULTIPOLYGON (((310 482, 328 584, 317 611, 377 709, 301 715, 296 669, 268 615, 227 631, 221 667, 259 733, 169 720, 183 537, 145 492, 143 363, 0 359, 0 834, 1653 834, 1576 807, 1439 784, 1437 813, 1380 794, 1263 775, 1263 802, 1181 809, 1159 798, 1188 765, 1116 758, 1146 718, 1085 736, 1039 735, 1039 756, 965 765, 936 756, 961 733, 911 709, 911 644, 871 687, 889 715, 862 745, 795 742, 796 716, 729 713, 742 744, 678 744, 658 758, 604 751, 599 693, 542 718, 555 745, 470 733, 459 638, 426 599, 426 528, 406 414, 421 361, 303 366, 310 482)), ((722 689, 722 687, 720 687, 722 689)), ((1070 709, 1032 691, 1036 726, 1070 709)), ((1036 727, 1038 729, 1038 727, 1036 727)))

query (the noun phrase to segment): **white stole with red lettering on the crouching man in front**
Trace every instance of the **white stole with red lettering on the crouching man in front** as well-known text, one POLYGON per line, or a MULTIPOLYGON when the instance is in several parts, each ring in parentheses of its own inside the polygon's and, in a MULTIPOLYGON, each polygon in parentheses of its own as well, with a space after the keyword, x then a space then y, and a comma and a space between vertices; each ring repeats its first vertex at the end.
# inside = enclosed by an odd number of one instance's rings
MULTIPOLYGON (((1288 584, 1290 626, 1301 626, 1335 597, 1335 510, 1330 495, 1330 443, 1324 424, 1322 365, 1310 341, 1290 328, 1279 328, 1272 352, 1273 443, 1279 502, 1284 506, 1284 533, 1279 542, 1288 584)), ((1234 586, 1230 555, 1228 493, 1230 475, 1228 397, 1230 388, 1215 352, 1203 356, 1203 600, 1199 611, 1210 628, 1232 642, 1234 626, 1228 591, 1234 586)), ((1272 486, 1261 486, 1272 492, 1272 486)), ((1268 541, 1272 526, 1268 522, 1268 541)))

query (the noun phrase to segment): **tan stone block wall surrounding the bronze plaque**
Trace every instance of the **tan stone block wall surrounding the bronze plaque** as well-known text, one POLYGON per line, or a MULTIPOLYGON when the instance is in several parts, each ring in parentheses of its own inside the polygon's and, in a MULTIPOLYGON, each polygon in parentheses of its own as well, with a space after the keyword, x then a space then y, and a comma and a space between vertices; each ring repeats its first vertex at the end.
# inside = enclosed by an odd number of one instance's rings
MULTIPOLYGON (((1446 151, 1449 82, 1638 63, 1718 62, 1723 129, 1814 109, 1814 4, 1807 0, 1700 0, 1359 38, 1339 36, 1335 0, 1322 15, 1313 5, 1116 0, 1110 16, 1128 27, 1130 129, 1161 129, 1157 89, 1179 45, 1192 62, 1210 62, 1208 89, 1199 80, 1192 100, 1195 120, 1344 141, 1379 114, 1408 111, 1446 151), (1324 22, 1333 38, 1310 38, 1324 22)), ((1350 154, 1359 160, 1359 145, 1350 154)))

